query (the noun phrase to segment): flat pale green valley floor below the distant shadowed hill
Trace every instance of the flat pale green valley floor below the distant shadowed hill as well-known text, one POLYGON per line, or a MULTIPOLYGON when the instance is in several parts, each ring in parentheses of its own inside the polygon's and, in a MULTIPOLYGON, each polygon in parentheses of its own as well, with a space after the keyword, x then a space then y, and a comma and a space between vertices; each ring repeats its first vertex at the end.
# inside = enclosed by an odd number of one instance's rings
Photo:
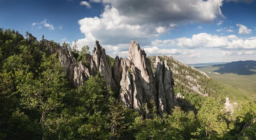
MULTIPOLYGON (((256 93, 256 74, 238 75, 236 73, 224 73, 224 74, 216 74, 214 72, 212 73, 212 71, 217 71, 220 68, 221 67, 212 67, 212 65, 209 65, 207 67, 201 67, 198 69, 207 73, 207 75, 210 78, 213 78, 217 81, 220 81, 232 87, 236 87, 243 92, 256 93)), ((250 70, 250 71, 256 72, 256 70, 250 70)), ((252 94, 252 95, 255 95, 255 94, 252 94)))

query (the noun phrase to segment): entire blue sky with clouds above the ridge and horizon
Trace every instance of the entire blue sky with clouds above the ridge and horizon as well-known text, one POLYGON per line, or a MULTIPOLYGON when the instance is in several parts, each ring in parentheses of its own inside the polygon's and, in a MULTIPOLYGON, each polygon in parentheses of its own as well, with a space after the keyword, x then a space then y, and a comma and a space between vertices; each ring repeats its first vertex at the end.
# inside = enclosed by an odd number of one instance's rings
POLYGON ((95 41, 127 57, 131 40, 147 56, 187 64, 256 60, 254 0, 0 0, 0 28, 79 49, 95 41))

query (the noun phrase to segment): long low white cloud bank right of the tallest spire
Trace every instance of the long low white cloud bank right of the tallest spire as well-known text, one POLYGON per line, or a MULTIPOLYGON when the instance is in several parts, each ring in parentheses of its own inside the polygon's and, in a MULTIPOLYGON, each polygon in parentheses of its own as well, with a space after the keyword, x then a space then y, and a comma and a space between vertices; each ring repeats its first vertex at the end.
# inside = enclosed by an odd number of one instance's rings
POLYGON ((152 45, 177 44, 180 47, 194 48, 220 48, 222 50, 256 50, 256 37, 242 39, 236 35, 217 36, 207 33, 194 34, 192 38, 177 38, 172 40, 154 40, 152 45))

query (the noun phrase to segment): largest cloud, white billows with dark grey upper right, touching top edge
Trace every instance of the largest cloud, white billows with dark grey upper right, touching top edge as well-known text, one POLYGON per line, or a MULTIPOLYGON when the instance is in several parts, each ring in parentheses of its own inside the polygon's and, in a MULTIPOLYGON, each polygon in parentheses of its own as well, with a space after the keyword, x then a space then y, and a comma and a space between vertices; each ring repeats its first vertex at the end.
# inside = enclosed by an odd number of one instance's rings
MULTIPOLYGON (((102 3, 105 9, 99 17, 79 20, 80 30, 86 36, 99 39, 104 45, 129 43, 131 40, 150 43, 177 24, 209 23, 224 18, 223 0, 90 0, 102 3), (161 15, 161 16, 159 16, 161 15)), ((88 8, 90 3, 82 1, 88 8)), ((90 40, 90 39, 84 40, 90 40)), ((94 42, 95 40, 91 40, 94 42)))

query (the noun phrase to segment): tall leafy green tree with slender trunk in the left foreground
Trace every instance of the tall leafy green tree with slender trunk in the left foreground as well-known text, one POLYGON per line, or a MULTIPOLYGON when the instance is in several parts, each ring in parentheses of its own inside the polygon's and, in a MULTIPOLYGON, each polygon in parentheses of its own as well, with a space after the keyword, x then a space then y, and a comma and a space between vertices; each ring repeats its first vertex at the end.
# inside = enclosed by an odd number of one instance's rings
POLYGON ((23 79, 17 89, 22 96, 21 104, 25 109, 40 112, 40 124, 43 138, 51 135, 51 125, 58 118, 58 111, 64 106, 63 100, 67 94, 67 80, 56 55, 44 56, 40 69, 42 73, 34 78, 33 73, 23 74, 16 71, 16 77, 23 79))

